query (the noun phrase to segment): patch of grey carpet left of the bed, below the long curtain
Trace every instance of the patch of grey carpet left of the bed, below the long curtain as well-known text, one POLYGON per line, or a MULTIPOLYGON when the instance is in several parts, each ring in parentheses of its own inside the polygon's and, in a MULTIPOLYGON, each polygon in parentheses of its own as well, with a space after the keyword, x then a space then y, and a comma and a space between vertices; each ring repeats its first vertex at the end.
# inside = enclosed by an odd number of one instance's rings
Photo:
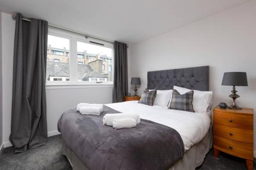
POLYGON ((46 145, 25 153, 14 154, 5 148, 0 154, 0 169, 72 169, 62 155, 61 135, 49 137, 46 145))

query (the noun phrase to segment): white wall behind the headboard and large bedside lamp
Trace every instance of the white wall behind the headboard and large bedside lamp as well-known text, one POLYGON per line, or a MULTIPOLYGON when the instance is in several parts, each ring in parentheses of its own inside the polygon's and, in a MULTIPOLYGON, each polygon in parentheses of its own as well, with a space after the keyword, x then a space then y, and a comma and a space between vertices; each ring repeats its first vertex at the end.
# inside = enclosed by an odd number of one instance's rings
MULTIPOLYGON (((246 71, 249 86, 237 87, 241 95, 237 104, 256 112, 255 0, 130 46, 131 77, 141 78, 140 93, 146 87, 147 71, 209 65, 214 105, 231 104, 231 86, 221 85, 223 72, 246 71)), ((256 116, 254 127, 255 120, 256 116)))

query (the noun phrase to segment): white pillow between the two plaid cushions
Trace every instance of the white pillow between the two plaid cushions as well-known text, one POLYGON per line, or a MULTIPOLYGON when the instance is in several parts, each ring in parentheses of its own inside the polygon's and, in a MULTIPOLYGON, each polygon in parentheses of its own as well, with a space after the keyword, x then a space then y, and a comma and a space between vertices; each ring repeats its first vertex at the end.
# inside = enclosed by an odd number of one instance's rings
POLYGON ((157 90, 157 96, 154 105, 167 107, 172 97, 173 90, 157 90))

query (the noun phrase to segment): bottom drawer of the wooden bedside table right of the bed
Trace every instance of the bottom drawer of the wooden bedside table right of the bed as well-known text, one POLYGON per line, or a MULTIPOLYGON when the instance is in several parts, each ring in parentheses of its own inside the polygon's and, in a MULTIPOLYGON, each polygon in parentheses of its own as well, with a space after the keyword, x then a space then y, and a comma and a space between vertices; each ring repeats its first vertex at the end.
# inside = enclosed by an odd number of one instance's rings
POLYGON ((253 160, 253 145, 214 135, 214 147, 225 153, 253 160))

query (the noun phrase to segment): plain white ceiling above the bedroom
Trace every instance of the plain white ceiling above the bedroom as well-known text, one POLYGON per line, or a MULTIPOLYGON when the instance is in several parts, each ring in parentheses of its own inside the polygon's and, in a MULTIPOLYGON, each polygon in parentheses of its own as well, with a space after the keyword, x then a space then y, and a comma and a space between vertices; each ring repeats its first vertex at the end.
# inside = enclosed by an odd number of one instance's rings
POLYGON ((0 0, 0 9, 97 37, 136 43, 247 1, 0 0))

